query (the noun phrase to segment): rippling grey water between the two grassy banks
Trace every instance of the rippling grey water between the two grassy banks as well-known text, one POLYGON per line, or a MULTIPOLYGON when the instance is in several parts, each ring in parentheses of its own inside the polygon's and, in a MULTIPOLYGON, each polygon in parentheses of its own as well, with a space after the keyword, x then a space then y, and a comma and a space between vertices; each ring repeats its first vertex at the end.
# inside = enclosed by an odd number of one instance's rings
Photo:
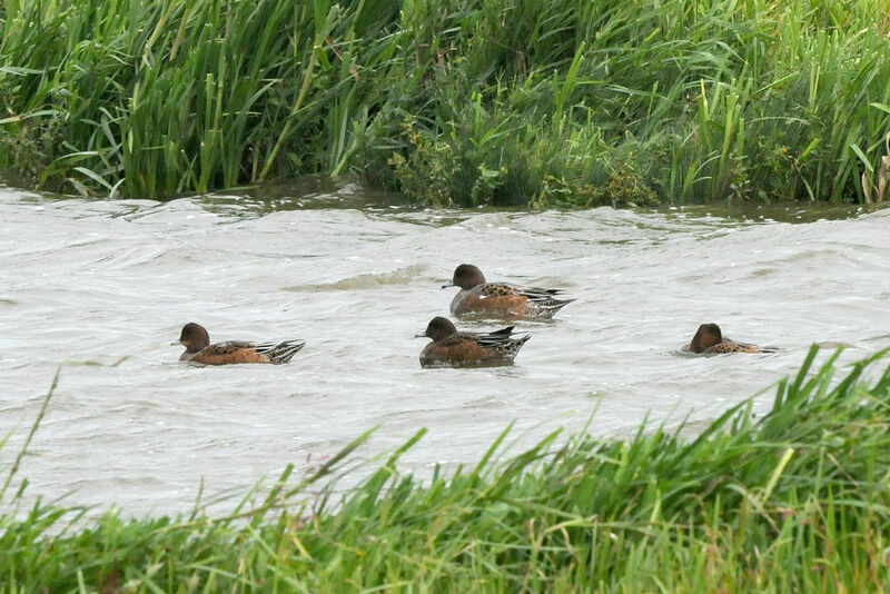
POLYGON ((812 343, 847 344, 846 362, 890 344, 888 227, 890 210, 419 210, 319 179, 165 204, 0 188, 0 468, 63 362, 106 365, 63 368, 27 493, 135 515, 188 511, 201 481, 243 495, 306 472, 374 426, 360 456, 427 427, 402 464, 424 474, 475 463, 511 422, 513 453, 591 417, 601 436, 704 423, 812 343), (447 315, 463 261, 577 300, 521 325, 512 367, 423 370, 413 336, 447 315), (170 346, 187 321, 307 346, 286 366, 194 367, 170 346), (679 354, 703 321, 781 349, 679 354))

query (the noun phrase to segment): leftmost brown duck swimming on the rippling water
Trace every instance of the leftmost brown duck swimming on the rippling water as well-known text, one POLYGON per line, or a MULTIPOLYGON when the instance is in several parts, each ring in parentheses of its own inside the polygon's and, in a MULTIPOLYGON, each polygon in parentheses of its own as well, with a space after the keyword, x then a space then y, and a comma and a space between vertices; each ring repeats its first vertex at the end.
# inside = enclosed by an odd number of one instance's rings
POLYGON ((239 363, 289 363, 294 354, 306 345, 305 340, 283 343, 248 343, 230 340, 210 344, 210 335, 200 324, 190 321, 182 326, 179 340, 174 345, 186 347, 179 360, 202 365, 234 365, 239 363))

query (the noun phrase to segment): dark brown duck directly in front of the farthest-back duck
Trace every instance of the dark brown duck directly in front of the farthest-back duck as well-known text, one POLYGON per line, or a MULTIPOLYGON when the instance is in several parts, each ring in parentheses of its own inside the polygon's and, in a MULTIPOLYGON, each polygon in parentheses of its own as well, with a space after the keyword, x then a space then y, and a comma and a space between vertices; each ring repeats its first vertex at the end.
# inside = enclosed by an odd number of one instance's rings
POLYGON ((513 326, 490 333, 457 331, 454 323, 434 317, 423 334, 432 338, 421 352, 421 367, 474 367, 512 365, 528 334, 513 334, 513 326))

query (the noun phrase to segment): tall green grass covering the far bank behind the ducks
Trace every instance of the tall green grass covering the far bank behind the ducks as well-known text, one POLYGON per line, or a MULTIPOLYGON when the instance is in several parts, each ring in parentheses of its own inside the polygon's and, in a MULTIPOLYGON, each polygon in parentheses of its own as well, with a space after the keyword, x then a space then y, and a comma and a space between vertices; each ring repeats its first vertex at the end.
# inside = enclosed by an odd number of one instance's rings
POLYGON ((890 199, 884 0, 7 0, 0 171, 168 197, 890 199))

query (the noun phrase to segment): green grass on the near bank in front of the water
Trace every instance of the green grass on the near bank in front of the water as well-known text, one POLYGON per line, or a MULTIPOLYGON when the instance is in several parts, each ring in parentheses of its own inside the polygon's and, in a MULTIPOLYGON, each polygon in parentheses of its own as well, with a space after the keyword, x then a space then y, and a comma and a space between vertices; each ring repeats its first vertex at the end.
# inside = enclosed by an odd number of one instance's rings
MULTIPOLYGON (((0 518, 0 592, 866 592, 890 587, 887 352, 834 379, 834 354, 698 438, 551 435, 418 483, 397 452, 336 505, 290 471, 226 518, 0 518), (832 387, 833 386, 833 387, 832 387)), ((506 434, 505 434, 506 435, 506 434)), ((314 487, 313 487, 314 488, 314 487)))

